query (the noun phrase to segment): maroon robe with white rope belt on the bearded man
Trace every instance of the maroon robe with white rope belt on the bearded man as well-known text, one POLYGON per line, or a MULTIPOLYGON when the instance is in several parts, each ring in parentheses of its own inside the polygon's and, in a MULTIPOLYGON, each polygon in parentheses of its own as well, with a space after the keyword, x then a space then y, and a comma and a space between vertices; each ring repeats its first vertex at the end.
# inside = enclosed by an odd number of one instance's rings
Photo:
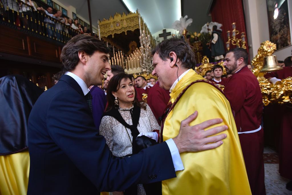
MULTIPOLYGON (((258 80, 247 66, 229 77, 224 93, 235 111, 237 131, 258 129, 262 120, 263 97, 258 80)), ((253 133, 239 134, 252 194, 266 194, 263 138, 263 129, 253 133)))

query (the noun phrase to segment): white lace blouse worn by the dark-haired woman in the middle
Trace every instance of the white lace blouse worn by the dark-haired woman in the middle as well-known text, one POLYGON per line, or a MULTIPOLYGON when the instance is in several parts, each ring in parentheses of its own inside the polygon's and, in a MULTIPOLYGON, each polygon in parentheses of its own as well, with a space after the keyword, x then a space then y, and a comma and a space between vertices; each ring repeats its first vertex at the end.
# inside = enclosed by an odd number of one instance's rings
MULTIPOLYGON (((133 108, 133 106, 131 108, 133 108)), ((133 124, 130 114, 131 108, 119 108, 121 116, 129 125, 133 124)), ((140 133, 152 132, 153 130, 160 131, 160 126, 158 125, 157 120, 148 104, 146 106, 146 110, 141 108, 137 129, 140 133)), ((131 130, 126 128, 115 118, 112 116, 102 117, 99 132, 105 137, 107 145, 114 156, 122 157, 132 154, 131 141, 133 136, 131 135, 131 130)))

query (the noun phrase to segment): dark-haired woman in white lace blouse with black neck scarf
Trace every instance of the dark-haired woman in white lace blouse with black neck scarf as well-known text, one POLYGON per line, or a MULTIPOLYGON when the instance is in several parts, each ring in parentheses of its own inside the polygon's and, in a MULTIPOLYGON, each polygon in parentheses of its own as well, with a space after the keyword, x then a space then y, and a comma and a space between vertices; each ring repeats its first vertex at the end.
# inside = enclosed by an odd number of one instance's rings
MULTIPOLYGON (((126 73, 112 77, 107 86, 108 106, 99 129, 114 156, 125 157, 138 153, 140 146, 136 138, 140 135, 158 141, 160 126, 148 104, 138 101, 136 96, 130 75, 126 73)), ((161 194, 161 183, 157 186, 160 187, 161 194)), ((146 192, 148 194, 147 188, 138 184, 126 189, 124 194, 146 194, 146 192)), ((159 193, 159 189, 157 192, 159 193)), ((118 192, 113 194, 115 193, 118 192)))

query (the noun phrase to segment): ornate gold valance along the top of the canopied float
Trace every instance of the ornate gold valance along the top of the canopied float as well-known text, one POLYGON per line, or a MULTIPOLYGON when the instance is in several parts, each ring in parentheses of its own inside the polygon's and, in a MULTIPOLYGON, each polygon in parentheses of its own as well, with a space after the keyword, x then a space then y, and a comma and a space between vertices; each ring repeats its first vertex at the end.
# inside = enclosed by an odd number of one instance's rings
MULTIPOLYGON (((115 33, 120 34, 125 32, 127 34, 128 30, 134 31, 135 29, 139 29, 139 16, 140 14, 137 9, 136 13, 130 12, 128 15, 125 13, 116 13, 114 17, 110 16, 108 20, 104 18, 102 21, 99 21, 100 36, 107 37, 112 35, 112 37, 114 37, 115 33)), ((149 29, 141 16, 140 20, 141 30, 144 30, 143 28, 145 28, 145 30, 149 32, 149 29)))

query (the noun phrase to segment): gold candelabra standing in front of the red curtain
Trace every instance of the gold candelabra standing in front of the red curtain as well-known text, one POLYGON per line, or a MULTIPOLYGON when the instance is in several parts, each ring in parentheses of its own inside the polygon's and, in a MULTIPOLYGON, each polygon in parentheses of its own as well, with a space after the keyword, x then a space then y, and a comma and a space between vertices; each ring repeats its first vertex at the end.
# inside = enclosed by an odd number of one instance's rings
POLYGON ((246 49, 246 40, 245 40, 245 33, 241 32, 241 39, 236 38, 236 35, 239 34, 239 31, 236 30, 236 25, 235 22, 232 23, 232 31, 228 30, 227 31, 227 37, 228 41, 226 42, 226 48, 227 50, 230 49, 230 41, 232 45, 236 45, 237 47, 242 47, 243 49, 246 49), (232 38, 230 37, 230 33, 232 33, 232 38))

